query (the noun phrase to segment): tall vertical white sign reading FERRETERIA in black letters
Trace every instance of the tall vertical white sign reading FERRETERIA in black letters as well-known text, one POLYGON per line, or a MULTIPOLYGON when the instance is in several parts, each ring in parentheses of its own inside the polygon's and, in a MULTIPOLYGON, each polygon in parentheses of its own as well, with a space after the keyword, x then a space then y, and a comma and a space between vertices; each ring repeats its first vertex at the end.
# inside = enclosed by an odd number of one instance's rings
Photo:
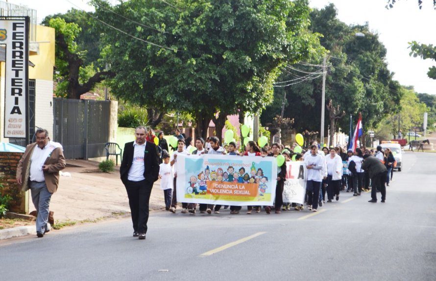
POLYGON ((28 131, 29 17, 0 17, 0 44, 6 45, 4 137, 28 131))

